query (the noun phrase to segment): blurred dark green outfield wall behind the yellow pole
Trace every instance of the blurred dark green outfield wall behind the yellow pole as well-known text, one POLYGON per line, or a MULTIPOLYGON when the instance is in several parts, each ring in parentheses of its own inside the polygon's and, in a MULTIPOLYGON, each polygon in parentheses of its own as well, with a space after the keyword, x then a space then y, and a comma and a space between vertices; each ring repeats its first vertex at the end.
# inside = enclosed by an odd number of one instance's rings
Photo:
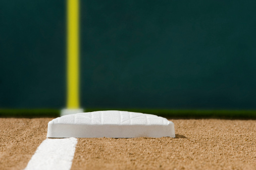
MULTIPOLYGON (((256 108, 255 1, 81 4, 81 105, 256 108)), ((0 1, 0 107, 61 108, 66 2, 0 1)))

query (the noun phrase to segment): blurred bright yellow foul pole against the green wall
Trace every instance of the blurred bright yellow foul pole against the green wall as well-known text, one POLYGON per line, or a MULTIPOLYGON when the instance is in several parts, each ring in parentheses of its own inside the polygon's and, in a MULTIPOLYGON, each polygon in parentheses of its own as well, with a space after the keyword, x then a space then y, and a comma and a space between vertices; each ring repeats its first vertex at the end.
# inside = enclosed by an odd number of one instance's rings
POLYGON ((67 0, 67 108, 79 108, 79 0, 67 0))

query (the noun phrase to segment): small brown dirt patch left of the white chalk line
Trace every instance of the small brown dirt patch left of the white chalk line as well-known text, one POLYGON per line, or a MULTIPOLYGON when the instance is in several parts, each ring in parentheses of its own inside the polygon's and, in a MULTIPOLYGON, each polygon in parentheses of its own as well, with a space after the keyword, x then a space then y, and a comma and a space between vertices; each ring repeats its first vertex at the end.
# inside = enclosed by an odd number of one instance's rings
POLYGON ((0 118, 0 169, 24 169, 53 118, 0 118))

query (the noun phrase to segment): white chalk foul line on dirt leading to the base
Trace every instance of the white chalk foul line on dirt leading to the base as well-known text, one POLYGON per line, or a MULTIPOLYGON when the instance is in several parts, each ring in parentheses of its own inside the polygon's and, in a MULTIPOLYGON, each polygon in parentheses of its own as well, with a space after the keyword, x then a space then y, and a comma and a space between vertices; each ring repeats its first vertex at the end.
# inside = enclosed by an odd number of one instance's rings
POLYGON ((38 146, 24 170, 69 170, 76 150, 77 139, 45 139, 38 146))

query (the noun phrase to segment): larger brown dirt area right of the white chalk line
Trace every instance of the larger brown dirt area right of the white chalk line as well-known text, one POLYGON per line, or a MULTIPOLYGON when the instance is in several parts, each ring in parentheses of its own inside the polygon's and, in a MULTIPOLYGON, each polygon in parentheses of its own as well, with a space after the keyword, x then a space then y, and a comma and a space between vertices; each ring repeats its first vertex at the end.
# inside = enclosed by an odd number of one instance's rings
POLYGON ((81 138, 71 169, 256 169, 256 121, 170 121, 176 138, 81 138))

